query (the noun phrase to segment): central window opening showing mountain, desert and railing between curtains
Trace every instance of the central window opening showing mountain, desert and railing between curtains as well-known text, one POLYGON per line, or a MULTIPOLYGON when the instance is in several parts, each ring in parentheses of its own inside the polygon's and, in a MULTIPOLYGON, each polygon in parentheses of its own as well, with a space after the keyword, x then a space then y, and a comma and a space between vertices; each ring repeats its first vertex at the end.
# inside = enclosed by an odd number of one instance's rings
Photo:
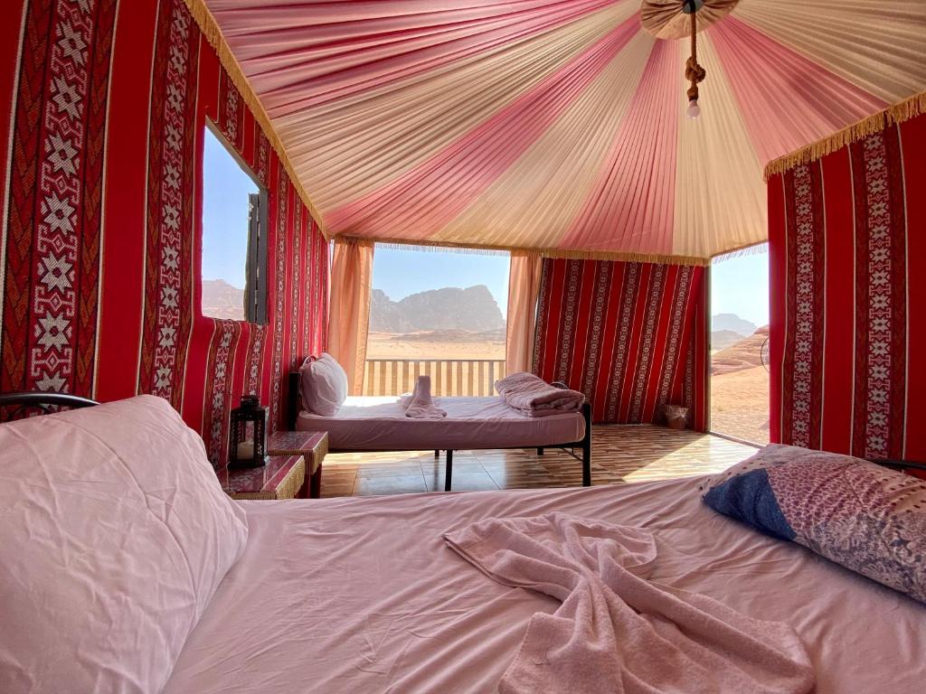
POLYGON ((508 263, 377 246, 365 393, 399 394, 428 374, 435 394, 491 394, 505 366, 508 263))

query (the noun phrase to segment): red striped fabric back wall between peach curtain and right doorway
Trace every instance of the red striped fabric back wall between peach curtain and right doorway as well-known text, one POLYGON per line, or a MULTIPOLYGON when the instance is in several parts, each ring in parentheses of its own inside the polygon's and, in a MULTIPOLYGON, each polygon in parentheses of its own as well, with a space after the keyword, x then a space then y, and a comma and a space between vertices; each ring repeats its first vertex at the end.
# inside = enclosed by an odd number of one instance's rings
POLYGON ((699 266, 544 259, 534 371, 592 403, 595 422, 691 408, 707 428, 707 282, 699 266))

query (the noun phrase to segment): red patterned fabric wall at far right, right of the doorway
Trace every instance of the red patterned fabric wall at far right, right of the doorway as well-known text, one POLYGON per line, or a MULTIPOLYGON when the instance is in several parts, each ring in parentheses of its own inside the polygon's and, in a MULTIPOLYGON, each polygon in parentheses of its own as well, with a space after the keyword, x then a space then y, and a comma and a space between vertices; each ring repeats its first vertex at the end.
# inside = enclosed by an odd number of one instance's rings
POLYGON ((926 460, 926 117, 769 181, 771 440, 926 460))

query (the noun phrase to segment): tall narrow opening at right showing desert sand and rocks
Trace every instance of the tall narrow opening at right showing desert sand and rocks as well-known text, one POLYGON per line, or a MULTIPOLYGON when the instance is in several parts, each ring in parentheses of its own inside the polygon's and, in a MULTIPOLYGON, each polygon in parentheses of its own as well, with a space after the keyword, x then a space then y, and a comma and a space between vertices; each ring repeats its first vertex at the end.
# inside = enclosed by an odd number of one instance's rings
POLYGON ((767 444, 768 246, 716 258, 710 283, 710 428, 767 444))

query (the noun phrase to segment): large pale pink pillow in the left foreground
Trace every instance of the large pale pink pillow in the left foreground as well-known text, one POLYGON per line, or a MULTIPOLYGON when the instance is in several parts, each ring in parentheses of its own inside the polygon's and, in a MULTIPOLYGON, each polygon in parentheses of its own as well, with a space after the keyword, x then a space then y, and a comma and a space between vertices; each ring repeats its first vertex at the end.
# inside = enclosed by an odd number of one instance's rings
POLYGON ((142 395, 0 451, 0 691, 159 692, 247 541, 202 439, 142 395))

